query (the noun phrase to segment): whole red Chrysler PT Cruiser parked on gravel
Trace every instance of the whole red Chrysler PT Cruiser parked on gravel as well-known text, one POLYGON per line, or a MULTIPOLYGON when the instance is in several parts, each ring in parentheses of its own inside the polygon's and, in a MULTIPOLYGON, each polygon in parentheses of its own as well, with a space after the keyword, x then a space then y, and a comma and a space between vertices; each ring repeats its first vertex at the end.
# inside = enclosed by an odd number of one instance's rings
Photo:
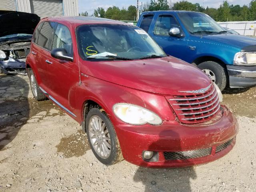
POLYGON ((26 68, 34 98, 82 125, 96 158, 139 166, 193 166, 227 154, 238 123, 198 68, 142 29, 101 18, 41 20, 26 68))

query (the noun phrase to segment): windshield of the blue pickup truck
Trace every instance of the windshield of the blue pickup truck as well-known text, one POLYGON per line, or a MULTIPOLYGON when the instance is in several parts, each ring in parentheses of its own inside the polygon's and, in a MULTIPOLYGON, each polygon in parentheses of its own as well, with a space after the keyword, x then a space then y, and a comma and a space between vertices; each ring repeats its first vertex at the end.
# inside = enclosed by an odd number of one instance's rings
POLYGON ((181 12, 178 15, 185 28, 192 34, 226 32, 222 26, 206 14, 197 12, 181 12))

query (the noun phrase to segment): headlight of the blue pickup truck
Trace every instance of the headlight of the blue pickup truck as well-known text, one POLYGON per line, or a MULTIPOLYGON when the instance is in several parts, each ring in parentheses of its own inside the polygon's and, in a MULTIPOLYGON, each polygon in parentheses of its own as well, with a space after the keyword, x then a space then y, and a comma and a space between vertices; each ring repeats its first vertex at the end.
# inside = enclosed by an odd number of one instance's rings
POLYGON ((238 52, 234 57, 234 65, 256 65, 256 52, 238 52))

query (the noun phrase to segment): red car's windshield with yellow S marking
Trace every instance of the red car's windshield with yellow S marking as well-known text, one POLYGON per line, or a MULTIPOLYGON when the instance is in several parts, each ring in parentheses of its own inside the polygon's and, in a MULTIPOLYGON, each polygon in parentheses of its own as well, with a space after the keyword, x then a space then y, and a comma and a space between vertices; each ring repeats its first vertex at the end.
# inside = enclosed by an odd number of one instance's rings
POLYGON ((84 60, 134 60, 166 56, 144 30, 135 26, 82 25, 77 29, 77 38, 79 54, 84 60))

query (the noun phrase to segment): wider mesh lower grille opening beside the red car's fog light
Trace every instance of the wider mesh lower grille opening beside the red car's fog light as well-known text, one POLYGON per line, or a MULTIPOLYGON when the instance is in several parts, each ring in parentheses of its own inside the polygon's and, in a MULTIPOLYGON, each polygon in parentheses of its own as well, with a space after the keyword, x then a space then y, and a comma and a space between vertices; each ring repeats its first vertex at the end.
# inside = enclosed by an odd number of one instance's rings
POLYGON ((210 155, 212 148, 198 149, 192 151, 178 151, 178 152, 164 152, 164 158, 166 160, 182 160, 199 158, 210 155))

